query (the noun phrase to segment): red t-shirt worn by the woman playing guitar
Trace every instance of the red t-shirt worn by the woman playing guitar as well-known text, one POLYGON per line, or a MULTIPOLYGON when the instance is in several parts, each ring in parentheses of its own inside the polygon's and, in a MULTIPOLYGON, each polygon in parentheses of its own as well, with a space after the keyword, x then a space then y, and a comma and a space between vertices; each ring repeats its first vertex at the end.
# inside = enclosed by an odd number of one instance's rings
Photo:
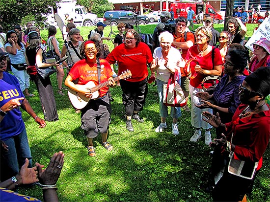
MULTIPOLYGON (((105 59, 100 59, 101 66, 101 75, 100 75, 100 83, 104 83, 108 81, 108 78, 112 76, 112 71, 110 65, 105 59)), ((98 68, 97 64, 87 63, 85 59, 82 59, 74 64, 74 66, 70 69, 69 75, 73 80, 79 78, 78 84, 85 85, 89 81, 93 81, 96 85, 98 82, 98 68)), ((100 89, 100 97, 106 95, 109 87, 105 86, 100 89)))

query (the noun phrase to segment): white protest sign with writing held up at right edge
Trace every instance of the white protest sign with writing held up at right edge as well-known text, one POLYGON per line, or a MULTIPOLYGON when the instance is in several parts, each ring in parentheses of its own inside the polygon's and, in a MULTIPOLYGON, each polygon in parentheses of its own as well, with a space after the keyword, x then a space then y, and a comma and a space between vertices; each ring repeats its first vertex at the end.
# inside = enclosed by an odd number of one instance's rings
POLYGON ((244 45, 253 52, 252 45, 259 41, 261 38, 266 38, 270 41, 270 18, 266 18, 264 22, 255 31, 252 37, 244 45))

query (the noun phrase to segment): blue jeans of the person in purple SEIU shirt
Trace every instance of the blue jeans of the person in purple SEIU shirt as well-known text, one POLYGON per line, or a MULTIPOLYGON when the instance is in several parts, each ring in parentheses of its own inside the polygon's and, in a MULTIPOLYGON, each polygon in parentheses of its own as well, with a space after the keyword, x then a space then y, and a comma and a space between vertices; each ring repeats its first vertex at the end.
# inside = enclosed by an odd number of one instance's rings
POLYGON ((4 141, 8 146, 7 152, 1 152, 1 181, 7 180, 19 173, 19 167, 29 159, 28 168, 32 167, 31 151, 28 144, 26 129, 19 135, 4 141))

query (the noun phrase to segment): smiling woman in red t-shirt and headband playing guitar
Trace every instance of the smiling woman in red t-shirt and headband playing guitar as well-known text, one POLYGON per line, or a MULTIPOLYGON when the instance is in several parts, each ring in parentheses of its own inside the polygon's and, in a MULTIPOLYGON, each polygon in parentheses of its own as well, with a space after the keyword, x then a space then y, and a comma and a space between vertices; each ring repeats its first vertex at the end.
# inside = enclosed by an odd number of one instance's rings
MULTIPOLYGON (((95 84, 104 83, 108 80, 109 86, 115 86, 112 80, 112 71, 108 62, 104 59, 99 60, 100 43, 91 39, 81 45, 81 56, 84 59, 78 61, 71 68, 66 80, 65 85, 71 90, 82 93, 85 97, 91 98, 92 92, 82 85, 88 82, 95 84), (78 84, 73 83, 74 80, 79 79, 78 84), (81 86, 80 86, 81 85, 81 86)), ((107 142, 109 117, 111 106, 108 97, 108 86, 99 90, 99 96, 96 99, 90 99, 88 104, 81 109, 81 128, 88 141, 88 155, 91 157, 96 156, 95 148, 93 145, 93 138, 102 134, 102 145, 108 150, 113 149, 112 145, 107 142)))

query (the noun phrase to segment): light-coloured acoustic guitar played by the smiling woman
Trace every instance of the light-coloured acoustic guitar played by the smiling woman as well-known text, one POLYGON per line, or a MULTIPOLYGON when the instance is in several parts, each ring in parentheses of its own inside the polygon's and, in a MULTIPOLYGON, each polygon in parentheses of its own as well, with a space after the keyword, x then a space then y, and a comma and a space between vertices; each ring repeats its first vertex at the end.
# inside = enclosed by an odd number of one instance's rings
MULTIPOLYGON (((116 81, 119 81, 120 79, 126 79, 126 78, 129 78, 131 76, 132 76, 131 71, 127 70, 127 71, 123 72, 121 75, 113 78, 113 80, 116 82, 116 81)), ((80 86, 80 87, 83 87, 87 90, 90 90, 90 92, 92 93, 92 96, 90 98, 85 97, 81 92, 77 92, 75 90, 69 89, 68 90, 68 97, 70 99, 71 104, 76 109, 81 110, 82 108, 84 108, 87 105, 89 100, 98 98, 100 95, 99 90, 105 86, 108 86, 108 84, 109 84, 109 80, 102 83, 102 84, 99 84, 99 85, 96 85, 95 82, 93 82, 93 81, 89 81, 85 85, 76 84, 76 86, 80 86)))

